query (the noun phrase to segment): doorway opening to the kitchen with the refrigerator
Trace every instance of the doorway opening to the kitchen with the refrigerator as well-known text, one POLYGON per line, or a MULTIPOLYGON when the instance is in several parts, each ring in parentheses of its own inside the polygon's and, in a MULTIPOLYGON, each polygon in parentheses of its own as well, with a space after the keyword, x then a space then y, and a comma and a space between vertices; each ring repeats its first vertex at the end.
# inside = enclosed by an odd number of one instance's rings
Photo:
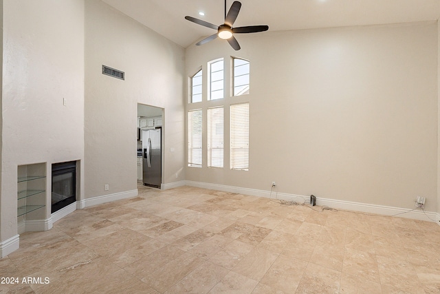
POLYGON ((137 104, 137 183, 162 187, 164 109, 137 104))

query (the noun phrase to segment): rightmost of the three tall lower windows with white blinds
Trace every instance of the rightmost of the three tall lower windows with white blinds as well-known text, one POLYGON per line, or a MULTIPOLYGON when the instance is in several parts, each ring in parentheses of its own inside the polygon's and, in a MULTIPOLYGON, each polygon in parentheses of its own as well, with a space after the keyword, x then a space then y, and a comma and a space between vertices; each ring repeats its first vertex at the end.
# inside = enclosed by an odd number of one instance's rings
POLYGON ((230 168, 249 170, 249 103, 230 106, 230 168))

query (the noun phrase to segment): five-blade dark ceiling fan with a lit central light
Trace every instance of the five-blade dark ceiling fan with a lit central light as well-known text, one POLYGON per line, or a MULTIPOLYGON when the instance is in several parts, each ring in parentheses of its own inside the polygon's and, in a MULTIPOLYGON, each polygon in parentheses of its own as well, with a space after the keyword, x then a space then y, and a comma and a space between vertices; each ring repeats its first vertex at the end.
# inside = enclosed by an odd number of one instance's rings
POLYGON ((216 34, 208 36, 207 38, 199 41, 195 45, 203 45, 217 38, 228 40, 228 43, 234 48, 234 50, 240 50, 239 42, 236 41, 234 34, 246 34, 250 32, 264 32, 269 30, 267 25, 249 25, 245 27, 232 28, 236 17, 239 16, 241 8, 241 3, 239 1, 234 1, 232 3, 231 8, 226 14, 226 0, 225 0, 225 23, 223 25, 214 25, 212 23, 208 23, 207 21, 202 21, 201 19, 196 19, 195 17, 185 17, 188 21, 192 21, 193 23, 197 23, 198 25, 203 25, 206 28, 212 28, 217 30, 216 34))

